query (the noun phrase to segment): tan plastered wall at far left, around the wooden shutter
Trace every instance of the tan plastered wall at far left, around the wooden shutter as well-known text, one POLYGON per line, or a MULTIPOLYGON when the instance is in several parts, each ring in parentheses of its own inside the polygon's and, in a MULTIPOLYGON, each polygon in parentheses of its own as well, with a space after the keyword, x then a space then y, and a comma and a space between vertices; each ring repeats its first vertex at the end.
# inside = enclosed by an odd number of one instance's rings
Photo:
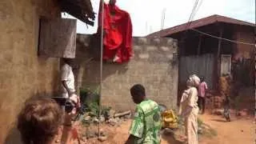
POLYGON ((58 58, 38 58, 39 18, 61 17, 56 2, 0 2, 0 143, 20 142, 13 132, 27 98, 57 90, 58 58))

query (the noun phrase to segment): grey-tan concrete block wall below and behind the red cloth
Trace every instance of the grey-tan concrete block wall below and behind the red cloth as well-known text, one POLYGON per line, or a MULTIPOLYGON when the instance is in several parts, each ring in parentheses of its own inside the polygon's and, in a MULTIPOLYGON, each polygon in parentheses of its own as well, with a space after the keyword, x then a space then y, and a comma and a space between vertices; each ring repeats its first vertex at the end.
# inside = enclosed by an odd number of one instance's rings
MULTIPOLYGON (((77 40, 80 43, 77 54, 82 54, 82 50, 86 49, 98 49, 86 43, 90 40, 86 35, 78 34, 77 40)), ((133 38, 133 49, 134 58, 130 62, 103 64, 102 105, 112 106, 115 110, 134 110, 130 87, 141 83, 146 87, 148 98, 176 108, 178 62, 173 60, 173 53, 178 50, 177 41, 172 38, 133 38)), ((82 86, 99 83, 99 64, 98 61, 82 64, 82 86)))

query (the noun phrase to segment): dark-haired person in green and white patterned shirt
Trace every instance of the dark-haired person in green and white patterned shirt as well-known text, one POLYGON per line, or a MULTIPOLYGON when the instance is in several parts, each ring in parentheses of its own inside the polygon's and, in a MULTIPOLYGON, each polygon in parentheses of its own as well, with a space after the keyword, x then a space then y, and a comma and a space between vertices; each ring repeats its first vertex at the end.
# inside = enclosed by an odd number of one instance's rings
POLYGON ((137 106, 126 144, 160 144, 161 115, 158 104, 146 98, 145 88, 140 84, 134 85, 130 94, 137 106))

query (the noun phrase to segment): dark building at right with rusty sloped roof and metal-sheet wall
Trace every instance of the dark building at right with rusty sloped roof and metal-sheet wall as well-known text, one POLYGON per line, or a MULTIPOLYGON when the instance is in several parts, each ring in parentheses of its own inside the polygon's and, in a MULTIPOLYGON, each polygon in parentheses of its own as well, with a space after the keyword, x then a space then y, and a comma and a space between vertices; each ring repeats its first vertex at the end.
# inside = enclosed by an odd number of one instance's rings
POLYGON ((212 15, 147 37, 178 39, 180 92, 190 74, 204 76, 210 89, 218 90, 219 77, 225 74, 240 86, 254 86, 254 29, 254 23, 212 15))

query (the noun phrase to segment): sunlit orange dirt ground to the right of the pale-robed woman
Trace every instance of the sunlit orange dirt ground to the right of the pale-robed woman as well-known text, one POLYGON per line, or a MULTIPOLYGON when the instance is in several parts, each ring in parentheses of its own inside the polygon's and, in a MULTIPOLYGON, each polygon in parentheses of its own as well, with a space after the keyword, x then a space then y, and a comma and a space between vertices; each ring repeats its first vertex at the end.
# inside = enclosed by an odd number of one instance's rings
POLYGON ((235 118, 225 122, 222 116, 204 114, 203 122, 217 130, 218 136, 213 139, 202 138, 202 144, 252 144, 256 139, 256 125, 253 118, 235 118))

